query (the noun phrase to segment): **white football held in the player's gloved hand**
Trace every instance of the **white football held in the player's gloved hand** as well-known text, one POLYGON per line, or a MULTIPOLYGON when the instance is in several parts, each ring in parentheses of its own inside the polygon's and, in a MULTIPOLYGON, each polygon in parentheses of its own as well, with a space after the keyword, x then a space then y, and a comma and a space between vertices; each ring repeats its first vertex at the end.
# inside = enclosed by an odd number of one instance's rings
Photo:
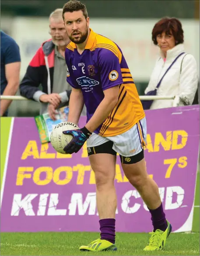
POLYGON ((63 134, 63 131, 77 129, 79 129, 79 127, 74 123, 62 122, 57 124, 50 135, 50 142, 53 148, 61 154, 66 154, 63 148, 70 143, 70 141, 73 139, 73 136, 70 134, 63 134))

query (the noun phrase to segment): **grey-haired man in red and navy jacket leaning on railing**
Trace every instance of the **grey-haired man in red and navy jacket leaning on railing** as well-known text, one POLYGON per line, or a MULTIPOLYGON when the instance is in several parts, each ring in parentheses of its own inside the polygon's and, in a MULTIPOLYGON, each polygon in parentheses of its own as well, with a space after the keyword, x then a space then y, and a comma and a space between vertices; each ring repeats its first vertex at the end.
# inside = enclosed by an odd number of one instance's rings
POLYGON ((41 103, 40 114, 49 112, 55 120, 56 108, 68 104, 71 86, 66 82, 65 49, 70 43, 62 18, 63 9, 49 16, 49 34, 52 39, 42 43, 28 65, 20 84, 20 94, 41 103), (42 90, 39 90, 39 85, 42 90))

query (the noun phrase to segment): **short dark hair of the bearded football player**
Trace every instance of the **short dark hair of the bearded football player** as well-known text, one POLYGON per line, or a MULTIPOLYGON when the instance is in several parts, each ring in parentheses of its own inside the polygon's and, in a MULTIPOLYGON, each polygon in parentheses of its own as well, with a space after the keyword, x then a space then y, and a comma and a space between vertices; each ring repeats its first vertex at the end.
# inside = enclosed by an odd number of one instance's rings
POLYGON ((63 6, 63 20, 66 12, 82 11, 85 19, 88 18, 88 12, 86 6, 77 0, 70 0, 63 6))

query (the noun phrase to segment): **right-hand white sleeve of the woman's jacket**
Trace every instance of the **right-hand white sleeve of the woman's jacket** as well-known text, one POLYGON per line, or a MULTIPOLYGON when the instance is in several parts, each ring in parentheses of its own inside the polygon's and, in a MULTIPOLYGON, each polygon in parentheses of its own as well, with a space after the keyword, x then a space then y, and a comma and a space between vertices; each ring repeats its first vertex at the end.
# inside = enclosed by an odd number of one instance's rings
POLYGON ((192 105, 198 85, 196 60, 187 54, 182 61, 179 81, 179 96, 185 105, 192 105))

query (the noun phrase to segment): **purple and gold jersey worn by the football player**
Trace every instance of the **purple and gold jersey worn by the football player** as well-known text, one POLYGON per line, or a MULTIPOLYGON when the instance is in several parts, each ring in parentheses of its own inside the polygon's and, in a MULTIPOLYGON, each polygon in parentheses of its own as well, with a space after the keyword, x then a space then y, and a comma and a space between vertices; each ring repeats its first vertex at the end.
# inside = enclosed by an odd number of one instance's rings
POLYGON ((87 122, 103 100, 103 91, 119 85, 117 104, 94 131, 102 137, 115 136, 129 130, 145 113, 122 51, 116 43, 90 30, 82 54, 73 42, 65 50, 67 82, 82 90, 87 122))

